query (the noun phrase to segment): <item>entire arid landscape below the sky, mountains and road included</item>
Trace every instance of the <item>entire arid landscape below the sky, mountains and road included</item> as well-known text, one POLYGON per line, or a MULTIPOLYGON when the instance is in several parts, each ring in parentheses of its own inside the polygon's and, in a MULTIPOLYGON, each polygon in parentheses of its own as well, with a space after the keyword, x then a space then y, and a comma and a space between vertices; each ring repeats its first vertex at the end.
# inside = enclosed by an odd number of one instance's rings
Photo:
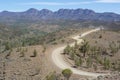
POLYGON ((0 17, 0 80, 120 79, 119 14, 31 8, 0 17))

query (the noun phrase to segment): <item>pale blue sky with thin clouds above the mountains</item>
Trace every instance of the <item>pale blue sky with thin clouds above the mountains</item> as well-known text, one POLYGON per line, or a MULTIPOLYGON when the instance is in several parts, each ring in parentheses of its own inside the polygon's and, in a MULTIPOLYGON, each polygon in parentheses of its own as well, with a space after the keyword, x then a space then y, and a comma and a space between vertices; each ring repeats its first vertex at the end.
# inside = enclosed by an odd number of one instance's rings
POLYGON ((120 0, 1 0, 0 11, 21 12, 29 8, 50 9, 91 9, 95 12, 120 14, 120 0))

